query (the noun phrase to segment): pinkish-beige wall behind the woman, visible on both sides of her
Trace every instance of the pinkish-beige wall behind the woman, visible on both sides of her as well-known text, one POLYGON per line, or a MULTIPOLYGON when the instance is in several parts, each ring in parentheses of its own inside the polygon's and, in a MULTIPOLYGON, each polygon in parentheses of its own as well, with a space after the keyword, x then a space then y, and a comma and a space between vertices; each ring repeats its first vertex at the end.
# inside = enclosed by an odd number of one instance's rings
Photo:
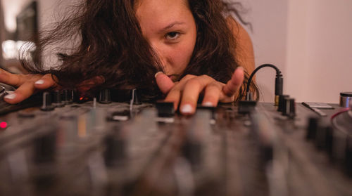
MULTIPOLYGON (((1 0, 27 4, 30 0, 1 0)), ((57 0, 39 0, 40 23, 54 19, 57 0)), ((72 1, 61 0, 65 6, 72 1)), ((352 1, 241 0, 252 23, 256 65, 272 63, 284 73, 284 93, 301 101, 337 103, 352 91, 352 1)), ((4 5, 6 6, 6 5, 4 5)), ((64 7, 64 6, 61 6, 64 7)), ((272 102, 275 72, 258 73, 262 101, 272 102)))

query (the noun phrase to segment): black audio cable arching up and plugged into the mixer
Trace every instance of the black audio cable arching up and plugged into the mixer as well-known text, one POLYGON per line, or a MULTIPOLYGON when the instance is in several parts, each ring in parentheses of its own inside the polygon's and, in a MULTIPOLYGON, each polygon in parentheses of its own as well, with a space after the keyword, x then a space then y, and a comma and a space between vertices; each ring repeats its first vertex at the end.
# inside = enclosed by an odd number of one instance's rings
POLYGON ((279 105, 279 95, 282 95, 282 89, 284 87, 284 78, 282 77, 282 73, 275 65, 272 64, 263 64, 256 68, 249 77, 246 86, 246 100, 251 100, 251 93, 249 92, 249 86, 251 85, 251 81, 254 77, 254 74, 258 72, 263 67, 272 67, 276 70, 276 77, 275 77, 275 105, 279 105))

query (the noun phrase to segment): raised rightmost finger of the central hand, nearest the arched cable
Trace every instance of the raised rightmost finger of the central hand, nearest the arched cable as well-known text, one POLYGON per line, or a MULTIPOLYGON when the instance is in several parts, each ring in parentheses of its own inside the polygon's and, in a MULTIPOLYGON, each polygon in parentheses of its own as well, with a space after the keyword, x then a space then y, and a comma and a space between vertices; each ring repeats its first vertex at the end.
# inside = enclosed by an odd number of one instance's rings
POLYGON ((225 96, 234 96, 234 93, 239 90, 243 81, 244 69, 243 67, 237 67, 237 69, 234 70, 231 79, 227 81, 227 84, 225 84, 225 86, 222 88, 222 92, 225 94, 225 96))

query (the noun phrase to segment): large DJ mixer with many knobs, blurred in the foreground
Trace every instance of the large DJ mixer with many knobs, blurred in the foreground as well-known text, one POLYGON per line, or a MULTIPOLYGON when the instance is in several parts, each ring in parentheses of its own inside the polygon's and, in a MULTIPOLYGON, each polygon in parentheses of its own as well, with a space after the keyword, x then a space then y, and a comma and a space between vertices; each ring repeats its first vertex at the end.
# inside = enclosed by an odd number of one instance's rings
POLYGON ((74 96, 0 103, 0 195, 352 195, 351 108, 74 96))

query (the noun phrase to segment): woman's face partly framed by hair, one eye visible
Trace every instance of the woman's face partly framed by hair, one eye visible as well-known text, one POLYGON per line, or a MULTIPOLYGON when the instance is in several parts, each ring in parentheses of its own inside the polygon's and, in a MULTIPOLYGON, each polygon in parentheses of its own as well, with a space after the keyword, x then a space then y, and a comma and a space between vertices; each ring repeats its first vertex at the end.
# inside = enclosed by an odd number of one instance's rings
POLYGON ((173 81, 187 67, 196 44, 196 22, 187 0, 139 0, 137 18, 144 37, 173 81))

